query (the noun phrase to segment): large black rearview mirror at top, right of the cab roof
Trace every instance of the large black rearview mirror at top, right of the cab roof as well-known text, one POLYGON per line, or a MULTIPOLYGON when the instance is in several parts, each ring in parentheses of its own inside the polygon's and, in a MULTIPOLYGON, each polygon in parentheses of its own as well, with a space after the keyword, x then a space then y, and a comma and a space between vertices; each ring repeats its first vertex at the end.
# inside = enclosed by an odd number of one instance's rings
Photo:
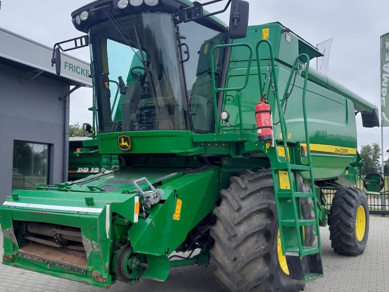
POLYGON ((230 12, 230 38, 247 36, 249 4, 245 0, 232 0, 230 12))

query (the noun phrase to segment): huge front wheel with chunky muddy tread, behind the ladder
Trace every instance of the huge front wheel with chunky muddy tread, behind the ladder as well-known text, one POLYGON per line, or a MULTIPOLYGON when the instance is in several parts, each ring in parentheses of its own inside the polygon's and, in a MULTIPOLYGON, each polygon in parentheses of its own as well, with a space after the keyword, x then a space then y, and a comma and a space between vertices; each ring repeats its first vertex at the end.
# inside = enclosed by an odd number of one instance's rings
MULTIPOLYGON (((309 188, 299 180, 300 189, 309 188)), ((313 218, 311 199, 301 199, 303 218, 313 218)), ((292 284, 278 237, 273 179, 269 169, 245 171, 230 178, 230 187, 221 191, 221 204, 211 229, 215 240, 211 258, 215 276, 225 291, 298 292, 292 284)), ((312 245, 312 226, 304 230, 305 244, 312 245)))

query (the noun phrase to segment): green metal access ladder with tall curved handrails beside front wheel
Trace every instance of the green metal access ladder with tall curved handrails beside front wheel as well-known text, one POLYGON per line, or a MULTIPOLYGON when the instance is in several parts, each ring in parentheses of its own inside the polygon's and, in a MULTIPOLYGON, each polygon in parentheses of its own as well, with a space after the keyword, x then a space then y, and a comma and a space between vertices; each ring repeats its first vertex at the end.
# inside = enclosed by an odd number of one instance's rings
MULTIPOLYGON (((308 73, 305 73, 304 87, 302 91, 302 112, 304 116, 304 133, 306 139, 306 156, 308 158, 308 165, 296 164, 296 146, 297 142, 287 141, 287 125, 282 110, 286 102, 286 95, 291 84, 293 74, 297 74, 296 66, 299 60, 304 58, 306 60, 306 71, 309 70, 309 56, 306 54, 298 55, 294 61, 289 75, 289 80, 286 84, 283 99, 280 101, 278 93, 277 73, 274 65, 274 55, 272 44, 268 39, 262 39, 256 46, 256 57, 258 67, 258 78, 260 84, 261 96, 264 96, 264 88, 262 81, 262 72, 260 66, 259 46, 265 43, 269 47, 271 75, 269 83, 273 82, 274 99, 276 101, 278 115, 280 119, 282 139, 274 139, 274 147, 269 148, 268 155, 270 157, 270 165, 273 175, 274 194, 276 201, 276 208, 278 214, 278 226, 280 230, 283 254, 286 256, 287 265, 290 271, 290 278, 292 282, 305 285, 305 283, 313 281, 323 276, 323 270, 320 259, 321 241, 319 232, 318 219, 318 198, 314 192, 314 176, 312 168, 312 157, 309 143, 309 132, 307 123, 307 112, 305 105, 305 95, 308 73), (296 70, 296 72, 295 72, 296 70), (291 147, 288 146, 291 145, 291 147), (289 149, 291 151, 289 151, 289 149), (311 190, 303 192, 299 187, 299 172, 306 171, 310 175, 311 190), (311 198, 314 206, 315 217, 303 218, 301 213, 301 198, 311 198), (306 246, 304 238, 304 228, 307 226, 316 227, 318 246, 306 246), (309 271, 303 268, 303 262, 306 262, 309 271)), ((269 84, 269 88, 272 87, 269 84)), ((300 150, 301 153, 301 150, 300 150)))

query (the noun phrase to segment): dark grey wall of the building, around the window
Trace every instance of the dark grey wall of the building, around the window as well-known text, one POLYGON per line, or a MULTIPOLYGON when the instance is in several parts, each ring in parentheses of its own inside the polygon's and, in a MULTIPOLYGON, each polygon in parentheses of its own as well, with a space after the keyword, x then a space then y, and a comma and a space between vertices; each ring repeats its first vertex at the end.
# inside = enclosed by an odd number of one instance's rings
POLYGON ((0 201, 11 194, 14 140, 51 145, 50 183, 63 177, 64 102, 69 91, 63 83, 38 76, 22 84, 22 70, 0 64, 0 201))

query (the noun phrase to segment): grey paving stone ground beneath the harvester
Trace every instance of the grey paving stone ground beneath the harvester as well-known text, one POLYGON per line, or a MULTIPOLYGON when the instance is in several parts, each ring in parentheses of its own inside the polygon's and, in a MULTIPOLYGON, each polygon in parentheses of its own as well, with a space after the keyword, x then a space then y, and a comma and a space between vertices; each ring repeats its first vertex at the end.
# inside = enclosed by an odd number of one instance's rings
MULTIPOLYGON (((389 218, 370 217, 369 243, 366 251, 358 257, 336 255, 331 249, 328 227, 322 227, 320 231, 324 278, 307 284, 306 292, 389 292, 389 218)), ((0 291, 222 292, 213 280, 214 269, 213 264, 208 268, 174 268, 165 282, 146 280, 132 287, 117 282, 106 290, 0 265, 0 291)))

